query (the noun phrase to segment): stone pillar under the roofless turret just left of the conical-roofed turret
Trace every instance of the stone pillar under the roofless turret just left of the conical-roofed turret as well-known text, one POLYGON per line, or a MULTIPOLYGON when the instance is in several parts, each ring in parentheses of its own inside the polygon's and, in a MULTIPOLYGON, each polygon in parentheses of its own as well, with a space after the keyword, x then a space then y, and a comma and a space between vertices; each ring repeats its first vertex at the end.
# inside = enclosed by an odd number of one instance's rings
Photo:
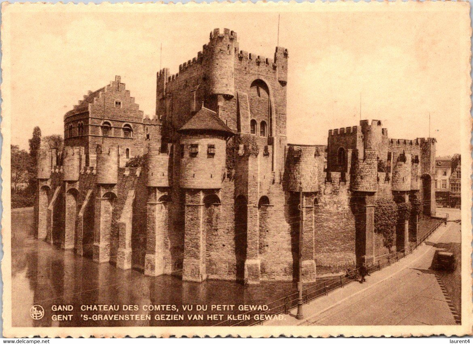
POLYGON ((149 188, 146 221, 145 275, 164 274, 164 237, 168 226, 166 202, 159 198, 165 195, 158 188, 149 188))

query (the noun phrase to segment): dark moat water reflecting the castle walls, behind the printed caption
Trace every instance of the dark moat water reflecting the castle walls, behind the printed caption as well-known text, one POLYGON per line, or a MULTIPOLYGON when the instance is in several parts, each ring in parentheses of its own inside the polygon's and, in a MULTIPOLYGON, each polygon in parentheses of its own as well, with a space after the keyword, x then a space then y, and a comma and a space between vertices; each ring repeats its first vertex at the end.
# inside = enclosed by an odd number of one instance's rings
POLYGON ((108 263, 98 264, 90 258, 75 255, 72 250, 35 239, 33 221, 32 208, 12 212, 14 327, 216 325, 226 320, 227 314, 245 313, 237 309, 238 305, 264 305, 297 292, 297 285, 291 282, 262 282, 250 286, 215 280, 194 283, 168 275, 145 276, 139 271, 121 270, 108 263), (44 310, 41 319, 33 319, 30 314, 35 305, 44 310), (54 311, 54 306, 59 305, 68 305, 69 310, 54 311), (112 309, 118 307, 119 310, 81 310, 88 305, 112 305, 112 309), (127 305, 131 305, 128 307, 131 310, 123 310, 127 305), (143 310, 148 305, 175 305, 178 311, 143 310), (183 312, 183 305, 192 305, 193 311, 183 312), (207 305, 208 310, 197 311, 197 305, 207 305), (225 307, 210 310, 211 305, 235 305, 235 308, 233 311, 225 307), (116 318, 100 319, 100 316, 111 314, 116 318), (184 319, 156 318, 156 315, 167 314, 182 314, 184 319), (204 319, 189 319, 188 314, 203 314, 204 319), (224 317, 208 320, 207 314, 224 314, 224 317), (127 320, 123 318, 125 315, 129 317, 127 320), (137 318, 131 319, 130 316, 135 315, 137 318))

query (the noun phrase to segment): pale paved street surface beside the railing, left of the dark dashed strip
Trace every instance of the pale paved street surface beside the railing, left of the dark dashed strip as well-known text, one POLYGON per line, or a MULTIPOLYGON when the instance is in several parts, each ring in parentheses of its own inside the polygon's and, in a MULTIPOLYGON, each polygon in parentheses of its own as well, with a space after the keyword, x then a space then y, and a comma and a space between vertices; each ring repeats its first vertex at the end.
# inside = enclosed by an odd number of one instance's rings
POLYGON ((446 297, 429 267, 436 243, 453 226, 441 225, 427 243, 414 253, 367 277, 304 304, 304 319, 294 317, 297 309, 281 320, 263 326, 289 325, 456 325, 446 297))

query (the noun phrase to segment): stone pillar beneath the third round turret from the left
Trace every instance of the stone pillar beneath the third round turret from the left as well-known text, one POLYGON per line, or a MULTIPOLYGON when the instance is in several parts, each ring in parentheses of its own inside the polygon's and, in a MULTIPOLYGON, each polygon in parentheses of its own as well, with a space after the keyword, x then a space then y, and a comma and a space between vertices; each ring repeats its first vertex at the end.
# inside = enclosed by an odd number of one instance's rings
MULTIPOLYGON (((100 193, 102 188, 99 187, 100 193)), ((113 200, 99 196, 95 198, 93 259, 104 263, 110 260, 110 231, 112 229, 113 200)))

